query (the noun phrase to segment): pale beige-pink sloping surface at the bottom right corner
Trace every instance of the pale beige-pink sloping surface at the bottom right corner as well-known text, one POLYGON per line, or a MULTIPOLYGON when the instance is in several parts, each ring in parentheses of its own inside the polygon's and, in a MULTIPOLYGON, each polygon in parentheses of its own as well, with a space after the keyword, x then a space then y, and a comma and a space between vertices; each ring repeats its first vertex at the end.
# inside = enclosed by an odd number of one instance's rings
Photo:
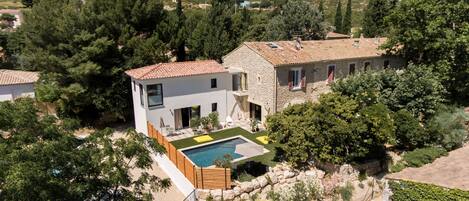
POLYGON ((406 168, 387 175, 388 179, 434 184, 447 188, 469 190, 469 144, 454 150, 448 156, 436 159, 420 168, 406 168))

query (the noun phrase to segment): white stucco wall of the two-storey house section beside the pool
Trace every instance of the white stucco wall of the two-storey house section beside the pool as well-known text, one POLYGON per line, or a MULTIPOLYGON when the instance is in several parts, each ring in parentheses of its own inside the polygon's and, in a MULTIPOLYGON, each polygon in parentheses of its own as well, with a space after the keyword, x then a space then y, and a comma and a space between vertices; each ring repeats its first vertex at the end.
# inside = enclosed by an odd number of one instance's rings
POLYGON ((160 129, 162 119, 165 125, 174 128, 174 110, 197 105, 200 105, 200 115, 204 117, 212 112, 212 103, 217 103, 217 112, 222 122, 226 119, 228 108, 234 104, 229 73, 135 81, 137 87, 132 91, 135 126, 137 131, 142 133, 147 133, 146 121, 150 121, 156 129, 160 129), (212 78, 217 79, 217 88, 211 88, 212 78), (140 105, 139 83, 144 86, 144 107, 140 105), (163 106, 148 108, 145 86, 151 84, 162 84, 163 106))

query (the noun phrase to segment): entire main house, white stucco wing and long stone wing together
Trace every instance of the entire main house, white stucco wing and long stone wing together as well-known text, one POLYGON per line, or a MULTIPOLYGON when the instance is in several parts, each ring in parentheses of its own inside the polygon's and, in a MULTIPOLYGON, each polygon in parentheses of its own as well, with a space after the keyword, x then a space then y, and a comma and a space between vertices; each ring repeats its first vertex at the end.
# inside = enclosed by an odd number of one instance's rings
POLYGON ((385 38, 245 42, 216 61, 162 63, 126 71, 135 124, 147 133, 183 130, 193 117, 218 112, 223 124, 249 125, 291 104, 316 101, 335 79, 405 61, 387 56, 385 38))

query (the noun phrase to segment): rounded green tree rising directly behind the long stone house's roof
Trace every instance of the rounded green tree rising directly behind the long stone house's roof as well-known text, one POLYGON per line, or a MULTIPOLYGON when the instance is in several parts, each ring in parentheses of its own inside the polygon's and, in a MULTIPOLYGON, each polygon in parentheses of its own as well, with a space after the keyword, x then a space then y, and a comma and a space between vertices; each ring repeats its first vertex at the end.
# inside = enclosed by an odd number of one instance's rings
POLYGON ((273 17, 266 27, 267 40, 292 40, 296 36, 304 40, 318 40, 326 36, 322 14, 310 2, 288 1, 280 14, 273 17))

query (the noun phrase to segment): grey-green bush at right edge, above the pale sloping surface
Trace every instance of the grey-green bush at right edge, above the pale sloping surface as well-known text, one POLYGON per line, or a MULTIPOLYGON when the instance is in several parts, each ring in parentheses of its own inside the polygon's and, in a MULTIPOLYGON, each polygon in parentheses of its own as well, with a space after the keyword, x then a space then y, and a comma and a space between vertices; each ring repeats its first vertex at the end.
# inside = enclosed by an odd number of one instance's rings
POLYGON ((442 108, 427 124, 432 141, 450 151, 466 141, 469 116, 461 108, 442 108))

